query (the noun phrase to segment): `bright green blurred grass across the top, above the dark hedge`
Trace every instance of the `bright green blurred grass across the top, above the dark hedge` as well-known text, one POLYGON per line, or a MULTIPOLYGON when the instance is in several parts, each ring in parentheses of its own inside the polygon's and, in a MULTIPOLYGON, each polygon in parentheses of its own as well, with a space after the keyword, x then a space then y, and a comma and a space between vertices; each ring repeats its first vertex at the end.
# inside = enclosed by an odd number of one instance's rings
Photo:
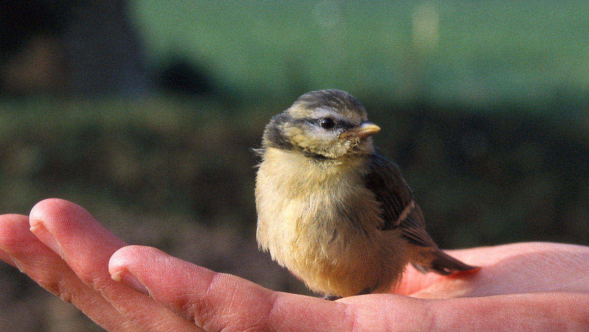
POLYGON ((589 99, 587 11, 585 1, 131 2, 152 65, 187 55, 248 96, 333 87, 389 102, 517 100, 532 112, 589 99))

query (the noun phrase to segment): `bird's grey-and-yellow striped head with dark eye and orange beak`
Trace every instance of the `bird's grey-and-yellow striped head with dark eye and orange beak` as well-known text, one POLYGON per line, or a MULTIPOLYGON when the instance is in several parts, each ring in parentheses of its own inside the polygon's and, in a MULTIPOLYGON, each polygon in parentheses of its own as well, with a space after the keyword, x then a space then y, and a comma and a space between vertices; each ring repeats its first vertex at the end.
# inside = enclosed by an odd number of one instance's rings
POLYGON ((348 92, 312 91, 272 118, 264 130, 263 146, 337 159, 372 153, 370 136, 379 130, 348 92))

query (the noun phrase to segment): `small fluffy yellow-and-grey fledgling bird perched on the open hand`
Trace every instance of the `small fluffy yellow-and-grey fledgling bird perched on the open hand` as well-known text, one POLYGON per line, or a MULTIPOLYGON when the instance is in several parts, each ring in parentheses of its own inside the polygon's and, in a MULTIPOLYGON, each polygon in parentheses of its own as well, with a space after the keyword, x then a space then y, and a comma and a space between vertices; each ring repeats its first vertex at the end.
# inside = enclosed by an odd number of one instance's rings
POLYGON ((338 89, 307 92, 264 128, 256 239, 326 299, 391 293, 406 265, 477 267, 440 250, 399 167, 373 147, 380 127, 338 89))

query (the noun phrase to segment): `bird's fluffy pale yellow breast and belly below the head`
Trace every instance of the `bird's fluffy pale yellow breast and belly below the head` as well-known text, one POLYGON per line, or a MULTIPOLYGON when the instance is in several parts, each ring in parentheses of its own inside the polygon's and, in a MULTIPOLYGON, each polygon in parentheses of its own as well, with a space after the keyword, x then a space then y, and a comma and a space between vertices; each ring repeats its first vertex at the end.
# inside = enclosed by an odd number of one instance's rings
POLYGON ((380 231, 380 203, 363 160, 313 162, 267 149, 256 178, 257 240, 313 291, 386 291, 407 263, 397 230, 380 231))

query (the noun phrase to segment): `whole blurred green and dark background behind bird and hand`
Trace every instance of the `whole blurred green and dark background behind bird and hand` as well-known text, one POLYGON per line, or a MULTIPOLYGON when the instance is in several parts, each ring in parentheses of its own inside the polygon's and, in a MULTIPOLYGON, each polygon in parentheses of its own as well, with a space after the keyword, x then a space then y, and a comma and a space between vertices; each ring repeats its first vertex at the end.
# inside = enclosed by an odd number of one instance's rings
MULTIPOLYGON (((76 202, 128 243, 309 294, 257 251, 252 148, 349 91, 442 248, 589 244, 589 4, 4 1, 0 213, 76 202)), ((0 267, 0 330, 100 330, 0 267)))

